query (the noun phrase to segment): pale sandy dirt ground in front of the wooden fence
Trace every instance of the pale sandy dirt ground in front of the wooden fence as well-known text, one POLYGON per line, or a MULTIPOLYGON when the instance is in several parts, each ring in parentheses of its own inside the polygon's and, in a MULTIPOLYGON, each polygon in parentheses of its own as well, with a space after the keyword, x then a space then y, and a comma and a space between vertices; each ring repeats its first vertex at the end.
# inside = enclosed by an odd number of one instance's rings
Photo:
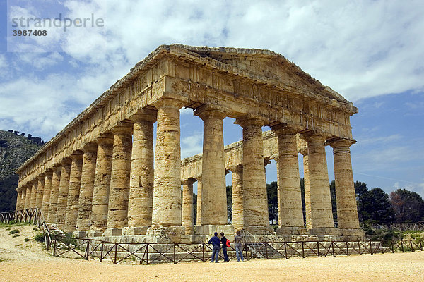
POLYGON ((0 226, 0 281, 424 281, 424 252, 125 265, 52 257, 33 228, 0 226))

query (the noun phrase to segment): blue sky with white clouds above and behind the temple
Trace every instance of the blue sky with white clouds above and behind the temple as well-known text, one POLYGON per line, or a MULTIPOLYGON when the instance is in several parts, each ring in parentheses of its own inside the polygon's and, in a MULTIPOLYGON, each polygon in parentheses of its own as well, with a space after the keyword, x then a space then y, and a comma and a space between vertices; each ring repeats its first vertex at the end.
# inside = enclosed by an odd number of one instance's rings
MULTIPOLYGON (((355 180, 424 197, 424 1, 202 2, 0 1, 0 130, 50 140, 160 44, 269 49, 358 106, 355 180), (47 36, 13 36, 19 27, 47 36)), ((201 152, 200 118, 184 110, 181 125, 182 157, 201 152)), ((225 144, 241 139, 224 126, 225 144)), ((328 149, 330 180, 332 161, 328 149)), ((266 176, 276 180, 275 162, 266 176)))

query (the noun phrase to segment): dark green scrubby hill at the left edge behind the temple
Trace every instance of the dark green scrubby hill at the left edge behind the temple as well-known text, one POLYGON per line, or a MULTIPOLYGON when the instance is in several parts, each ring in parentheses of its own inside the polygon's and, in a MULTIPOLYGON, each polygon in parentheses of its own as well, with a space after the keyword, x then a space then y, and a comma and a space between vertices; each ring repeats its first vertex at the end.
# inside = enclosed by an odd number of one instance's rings
POLYGON ((19 179, 16 168, 40 149, 40 140, 40 137, 27 137, 16 131, 0 130, 0 212, 15 209, 19 179))

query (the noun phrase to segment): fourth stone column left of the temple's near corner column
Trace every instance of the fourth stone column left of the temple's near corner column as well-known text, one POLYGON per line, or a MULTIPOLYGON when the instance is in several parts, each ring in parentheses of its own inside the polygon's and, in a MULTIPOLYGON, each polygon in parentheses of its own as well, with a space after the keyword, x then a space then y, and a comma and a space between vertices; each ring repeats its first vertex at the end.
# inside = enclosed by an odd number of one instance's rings
POLYGON ((79 209, 76 219, 77 231, 88 231, 91 226, 91 206, 93 204, 93 189, 95 177, 95 162, 97 158, 97 144, 83 147, 83 168, 81 171, 81 188, 79 195, 79 209))

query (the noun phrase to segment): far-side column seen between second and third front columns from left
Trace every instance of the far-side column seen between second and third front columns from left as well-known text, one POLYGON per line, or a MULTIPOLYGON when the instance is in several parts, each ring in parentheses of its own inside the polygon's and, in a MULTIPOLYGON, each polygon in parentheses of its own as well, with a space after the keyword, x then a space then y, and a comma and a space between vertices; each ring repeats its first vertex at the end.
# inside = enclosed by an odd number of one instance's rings
POLYGON ((230 171, 232 171, 232 226, 237 231, 244 228, 243 166, 232 167, 230 171))

